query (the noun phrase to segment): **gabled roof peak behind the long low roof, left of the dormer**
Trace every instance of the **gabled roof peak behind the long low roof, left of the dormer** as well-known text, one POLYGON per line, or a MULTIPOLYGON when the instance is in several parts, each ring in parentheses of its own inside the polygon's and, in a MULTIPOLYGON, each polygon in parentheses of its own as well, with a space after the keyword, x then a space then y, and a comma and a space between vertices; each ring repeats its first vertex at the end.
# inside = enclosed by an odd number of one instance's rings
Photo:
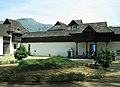
POLYGON ((48 31, 59 31, 59 30, 67 30, 67 25, 62 23, 62 22, 59 22, 57 21, 57 23, 51 27, 48 31))

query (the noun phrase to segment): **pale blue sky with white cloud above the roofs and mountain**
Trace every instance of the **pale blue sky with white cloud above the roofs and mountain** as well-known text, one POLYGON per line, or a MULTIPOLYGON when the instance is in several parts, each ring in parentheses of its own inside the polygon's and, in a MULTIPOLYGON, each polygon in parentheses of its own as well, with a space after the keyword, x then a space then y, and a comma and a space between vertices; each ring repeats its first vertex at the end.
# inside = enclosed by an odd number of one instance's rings
POLYGON ((104 22, 120 26, 120 0, 0 0, 0 20, 33 18, 40 23, 104 22))

